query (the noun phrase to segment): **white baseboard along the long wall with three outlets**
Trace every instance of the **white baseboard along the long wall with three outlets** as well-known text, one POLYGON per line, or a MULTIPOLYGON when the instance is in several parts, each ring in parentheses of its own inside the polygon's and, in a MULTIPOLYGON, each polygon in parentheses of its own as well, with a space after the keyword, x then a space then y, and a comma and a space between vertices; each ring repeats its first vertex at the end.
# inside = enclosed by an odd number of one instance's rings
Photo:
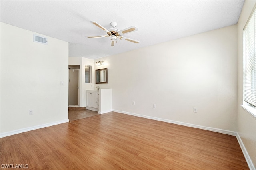
POLYGON ((140 114, 124 112, 124 111, 118 111, 118 110, 113 110, 113 111, 118 112, 118 113, 124 113, 124 114, 127 114, 127 115, 133 115, 133 116, 138 116, 138 117, 144 117, 144 118, 147 118, 147 119, 153 119, 153 120, 156 120, 156 121, 168 122, 168 123, 173 123, 173 124, 177 124, 177 125, 183 125, 183 126, 186 126, 186 127, 199 128, 199 129, 203 129, 203 130, 209 130, 209 131, 212 131, 212 132, 218 132, 218 133, 222 133, 222 134, 228 134, 228 135, 236 136, 236 132, 230 131, 230 130, 223 130, 223 129, 212 128, 212 127, 205 127, 205 126, 194 125, 194 124, 190 124, 190 123, 172 121, 170 119, 162 119, 162 118, 140 115, 140 114))

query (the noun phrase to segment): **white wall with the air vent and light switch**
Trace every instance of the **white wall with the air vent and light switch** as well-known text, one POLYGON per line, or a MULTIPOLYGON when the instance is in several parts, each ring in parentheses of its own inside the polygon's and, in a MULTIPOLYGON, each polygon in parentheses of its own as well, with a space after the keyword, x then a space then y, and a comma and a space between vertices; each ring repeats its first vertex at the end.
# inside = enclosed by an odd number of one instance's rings
POLYGON ((68 42, 33 33, 1 22, 1 136, 68 121, 68 42))

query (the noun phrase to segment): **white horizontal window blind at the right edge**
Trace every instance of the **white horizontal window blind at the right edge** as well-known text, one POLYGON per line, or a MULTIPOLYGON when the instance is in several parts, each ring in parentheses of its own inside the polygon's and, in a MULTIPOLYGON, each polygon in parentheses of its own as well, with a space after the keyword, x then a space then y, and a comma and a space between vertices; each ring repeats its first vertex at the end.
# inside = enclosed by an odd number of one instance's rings
POLYGON ((250 16, 244 27, 244 101, 256 107, 256 59, 255 59, 255 16, 256 10, 250 16))

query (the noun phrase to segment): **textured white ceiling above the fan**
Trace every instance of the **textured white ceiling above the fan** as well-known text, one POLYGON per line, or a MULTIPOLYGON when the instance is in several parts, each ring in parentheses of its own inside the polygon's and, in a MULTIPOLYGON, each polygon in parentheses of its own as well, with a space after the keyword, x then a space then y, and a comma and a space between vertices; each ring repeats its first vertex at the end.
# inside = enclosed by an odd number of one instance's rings
POLYGON ((244 0, 0 1, 1 22, 69 42, 70 57, 96 59, 237 24, 244 0), (136 44, 110 38, 105 28, 136 26, 136 44))

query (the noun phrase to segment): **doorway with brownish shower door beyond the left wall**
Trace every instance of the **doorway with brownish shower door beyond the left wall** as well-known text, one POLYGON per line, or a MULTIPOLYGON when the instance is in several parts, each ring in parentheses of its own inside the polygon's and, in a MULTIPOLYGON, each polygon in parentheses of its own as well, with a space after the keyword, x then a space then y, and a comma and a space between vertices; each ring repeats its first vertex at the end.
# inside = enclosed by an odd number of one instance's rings
POLYGON ((79 106, 79 65, 68 65, 68 106, 79 106))

